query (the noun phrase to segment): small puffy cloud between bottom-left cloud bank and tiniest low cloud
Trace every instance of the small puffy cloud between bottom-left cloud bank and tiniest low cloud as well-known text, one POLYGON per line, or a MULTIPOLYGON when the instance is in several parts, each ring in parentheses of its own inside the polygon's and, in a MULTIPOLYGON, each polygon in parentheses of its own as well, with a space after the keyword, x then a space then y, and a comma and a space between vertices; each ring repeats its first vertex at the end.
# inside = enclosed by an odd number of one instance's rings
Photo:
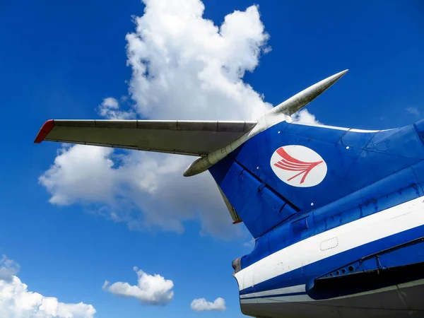
POLYGON ((174 298, 172 288, 174 283, 158 274, 149 275, 134 267, 138 279, 137 285, 117 282, 110 285, 108 281, 103 284, 103 290, 126 298, 136 298, 143 304, 148 305, 167 305, 174 298))

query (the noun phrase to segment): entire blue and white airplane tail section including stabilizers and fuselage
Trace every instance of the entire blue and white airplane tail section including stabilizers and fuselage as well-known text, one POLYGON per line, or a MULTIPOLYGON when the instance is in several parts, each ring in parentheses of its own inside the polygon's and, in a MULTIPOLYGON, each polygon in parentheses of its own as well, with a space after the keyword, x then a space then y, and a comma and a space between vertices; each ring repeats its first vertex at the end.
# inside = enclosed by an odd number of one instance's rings
POLYGON ((49 120, 35 142, 198 156, 184 175, 208 170, 255 239, 232 261, 246 315, 424 317, 424 120, 290 120, 346 71, 254 122, 49 120))

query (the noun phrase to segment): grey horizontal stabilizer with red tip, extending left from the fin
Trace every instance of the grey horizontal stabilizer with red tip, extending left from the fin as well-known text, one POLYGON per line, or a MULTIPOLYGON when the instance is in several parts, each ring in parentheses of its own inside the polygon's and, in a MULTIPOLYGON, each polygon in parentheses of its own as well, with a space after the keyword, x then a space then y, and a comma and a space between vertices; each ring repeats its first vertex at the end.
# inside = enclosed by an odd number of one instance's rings
POLYGON ((256 124, 241 121, 52 119, 42 126, 34 142, 57 141, 204 156, 237 140, 256 124))

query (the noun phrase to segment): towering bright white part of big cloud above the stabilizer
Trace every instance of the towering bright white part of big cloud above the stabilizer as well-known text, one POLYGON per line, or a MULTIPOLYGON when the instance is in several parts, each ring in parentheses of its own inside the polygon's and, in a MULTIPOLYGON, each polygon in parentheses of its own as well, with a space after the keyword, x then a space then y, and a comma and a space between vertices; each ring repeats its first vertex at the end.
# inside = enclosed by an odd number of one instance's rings
POLYGON ((269 35, 257 6, 202 17, 199 0, 143 1, 136 32, 126 35, 129 85, 136 109, 153 119, 255 119, 271 108, 242 81, 253 71, 269 35))

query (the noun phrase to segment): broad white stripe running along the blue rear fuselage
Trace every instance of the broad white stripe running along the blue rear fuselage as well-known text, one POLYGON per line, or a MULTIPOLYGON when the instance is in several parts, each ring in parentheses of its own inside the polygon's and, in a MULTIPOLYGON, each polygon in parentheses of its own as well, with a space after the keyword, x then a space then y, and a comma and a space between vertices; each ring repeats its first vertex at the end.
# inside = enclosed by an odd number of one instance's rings
POLYGON ((424 225, 423 199, 421 196, 285 247, 235 273, 239 288, 252 287, 315 261, 424 225), (338 238, 336 247, 320 248, 322 242, 334 237, 338 238))

